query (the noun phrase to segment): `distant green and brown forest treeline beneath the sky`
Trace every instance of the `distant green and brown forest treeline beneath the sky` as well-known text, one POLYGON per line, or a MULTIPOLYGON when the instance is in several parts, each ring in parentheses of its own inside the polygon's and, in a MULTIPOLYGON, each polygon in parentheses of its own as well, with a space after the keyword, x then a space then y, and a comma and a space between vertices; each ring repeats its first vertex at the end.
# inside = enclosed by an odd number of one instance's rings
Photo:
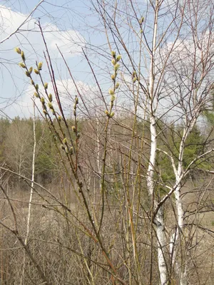
MULTIPOLYGON (((108 138, 108 160, 106 165, 106 172, 120 173, 122 172, 121 155, 128 157, 128 146, 132 140, 132 121, 133 118, 118 118, 111 124, 108 138)), ((73 126, 73 120, 68 119, 67 123, 70 128, 73 126)), ((98 187, 98 180, 102 165, 103 155, 103 133, 104 120, 102 118, 93 120, 82 119, 78 121, 78 130, 81 131, 81 140, 78 146, 78 155, 80 157, 80 164, 83 167, 83 172, 88 174, 88 177, 96 177, 96 187, 98 187)), ((56 124, 57 128, 57 124, 56 124)), ((63 124, 62 124, 63 128, 63 124)), ((170 125, 170 128, 165 128, 165 123, 158 123, 158 147, 161 147, 161 152, 157 152, 157 167, 156 178, 167 182, 174 179, 172 167, 170 167, 170 158, 165 155, 163 150, 172 153, 175 162, 178 162, 179 144, 183 135, 182 125, 170 125), (177 161, 176 161, 177 160, 177 161)), ((208 136, 210 131, 209 125, 207 130, 200 131, 200 127, 196 126, 188 135, 188 140, 185 143, 184 163, 187 167, 195 157, 203 153, 205 149, 213 143, 212 134, 208 136), (205 135, 206 133, 206 135, 205 135), (206 138, 206 140, 205 140, 206 138)), ((72 132, 71 132, 72 134, 72 132)), ((144 140, 145 145, 143 149, 143 157, 141 160, 141 174, 146 171, 148 167, 148 154, 150 150, 150 130, 148 123, 139 121, 138 127, 133 140, 132 163, 133 171, 138 167, 138 153, 141 151, 141 142, 144 140), (142 137, 142 130, 143 137, 142 137)), ((73 136, 75 143, 75 136, 73 136)), ((60 157, 56 148, 58 142, 53 133, 49 130, 49 125, 45 120, 36 119, 36 165, 35 176, 36 182, 48 184, 53 180, 60 180, 60 157)), ((11 170, 18 175, 31 177, 32 171, 32 155, 34 147, 34 133, 33 133, 33 119, 20 119, 19 117, 9 120, 6 118, 0 119, 0 163, 7 165, 11 170)), ((60 148, 60 145, 58 145, 60 148)), ((198 169, 212 169, 212 157, 208 160, 197 160, 192 165, 190 171, 191 178, 198 175, 198 169)), ((89 179, 89 178, 88 178, 89 179)), ((10 180, 11 181, 11 180, 10 180)), ((13 180, 14 186, 26 185, 19 176, 13 180)), ((93 185, 93 187, 95 187, 93 185)))

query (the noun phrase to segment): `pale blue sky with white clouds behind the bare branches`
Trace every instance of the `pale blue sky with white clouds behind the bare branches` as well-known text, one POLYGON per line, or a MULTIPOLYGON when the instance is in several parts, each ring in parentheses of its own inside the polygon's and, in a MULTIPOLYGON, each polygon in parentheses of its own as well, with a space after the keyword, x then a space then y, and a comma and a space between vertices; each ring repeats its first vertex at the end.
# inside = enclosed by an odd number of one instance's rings
MULTIPOLYGON (((139 19, 142 15, 145 16, 146 20, 144 21, 145 26, 143 26, 143 28, 145 28, 146 40, 151 45, 153 35, 153 10, 151 5, 150 7, 147 6, 147 0, 136 0, 136 2, 138 2, 136 12, 138 13, 139 19)), ((121 4, 121 10, 118 12, 119 16, 117 18, 119 31, 123 36, 123 41, 125 41, 128 50, 131 51, 133 61, 136 61, 136 67, 138 68, 139 54, 141 54, 139 53, 138 42, 138 34, 140 33, 139 26, 135 21, 136 19, 132 22, 131 14, 127 17, 126 3, 129 2, 119 1, 118 3, 121 4), (130 32, 132 28, 133 32, 130 32)), ((106 42, 106 34, 103 24, 101 24, 101 19, 94 13, 90 0, 45 0, 37 7, 34 13, 29 16, 37 4, 39 4, 39 0, 0 0, 0 115, 9 116, 9 118, 14 118, 17 115, 19 115, 20 118, 28 118, 33 114, 32 96, 34 90, 29 83, 29 78, 26 78, 24 70, 19 67, 21 57, 18 53, 14 52, 14 48, 16 47, 21 48, 21 50, 25 52, 28 67, 35 67, 36 61, 44 62, 42 77, 45 82, 49 83, 49 92, 53 92, 50 83, 51 78, 44 59, 44 51, 46 48, 39 31, 38 21, 41 23, 44 37, 49 48, 58 91, 61 95, 66 115, 71 115, 72 113, 73 100, 77 91, 71 80, 71 76, 69 76, 68 69, 63 63, 63 59, 60 53, 58 53, 56 45, 61 53, 63 53, 81 95, 83 99, 86 100, 89 113, 93 114, 94 106, 102 105, 101 100, 98 99, 101 96, 99 88, 93 78, 91 68, 88 66, 88 62, 83 55, 82 48, 86 51, 88 61, 93 65, 93 71, 96 73, 104 95, 107 96, 108 89, 111 88, 112 84, 112 65, 110 48, 108 48, 106 42), (29 18, 27 19, 28 16, 29 18), (16 31, 26 19, 26 23, 21 26, 19 32, 4 41, 4 39, 16 31)), ((164 4, 165 6, 163 5, 163 10, 161 10, 160 19, 158 19, 160 27, 158 33, 160 36, 164 34, 164 28, 170 23, 170 17, 173 17, 173 9, 176 8, 174 0, 166 0, 164 4), (167 6, 166 4, 170 4, 170 8, 172 7, 172 9, 168 10, 172 12, 171 14, 166 13, 168 9, 165 8, 167 6)), ((133 15, 134 12, 131 10, 131 5, 128 9, 130 9, 133 15)), ((203 7, 200 8, 200 10, 202 11, 201 15, 205 16, 206 13, 203 11, 203 7)), ((111 6, 108 12, 110 16, 111 13, 113 16, 111 6)), ((135 16, 133 16, 133 19, 134 18, 135 16)), ((201 18, 200 21, 203 24, 205 19, 201 18)), ((163 58, 167 56, 170 46, 173 46, 173 41, 176 37, 176 28, 178 28, 178 26, 176 26, 176 23, 174 26, 170 26, 168 33, 165 35, 165 40, 161 42, 160 54, 162 53, 163 58), (173 28, 175 28, 175 30, 173 28)), ((172 57, 175 58, 173 59, 175 66, 177 64, 176 58, 179 58, 178 65, 184 68, 187 67, 187 69, 191 66, 192 58, 190 53, 193 47, 193 41, 190 41, 188 32, 188 28, 185 29, 184 27, 182 29, 180 38, 175 45, 175 52, 172 53, 172 57), (186 51, 185 57, 183 56, 183 51, 186 51)), ((111 37, 110 41, 113 41, 113 37, 111 37)), ((123 63, 125 64, 121 65, 120 68, 123 75, 120 78, 120 96, 117 98, 121 100, 118 105, 121 105, 121 109, 124 108, 124 110, 126 110, 128 104, 132 102, 133 105, 133 98, 131 98, 131 95, 127 92, 127 87, 123 90, 122 81, 131 84, 132 78, 131 74, 126 71, 126 64, 130 71, 132 70, 132 66, 130 62, 128 63, 128 60, 126 61, 128 56, 123 48, 121 48, 121 51, 123 63)), ((201 51, 198 51, 200 60, 201 51)), ((145 48, 142 49, 141 58, 141 71, 143 76, 144 73, 148 76, 149 59, 148 52, 145 48)), ((161 60, 160 64, 158 63, 160 70, 161 60)), ((147 81, 146 76, 145 81, 147 81)), ((188 76, 185 77, 185 81, 188 80, 188 76)), ((34 81, 39 84, 41 90, 41 83, 35 74, 34 81)), ((143 100, 143 98, 141 99, 143 100)), ((177 98, 175 99, 177 100, 177 98)), ((168 98, 164 98, 163 95, 163 104, 161 105, 162 113, 163 110, 168 113, 168 107, 171 101, 169 96, 168 98)), ((172 116, 175 115, 175 108, 173 108, 173 112, 171 113, 172 116)), ((180 117, 180 113, 178 113, 178 116, 180 117)))

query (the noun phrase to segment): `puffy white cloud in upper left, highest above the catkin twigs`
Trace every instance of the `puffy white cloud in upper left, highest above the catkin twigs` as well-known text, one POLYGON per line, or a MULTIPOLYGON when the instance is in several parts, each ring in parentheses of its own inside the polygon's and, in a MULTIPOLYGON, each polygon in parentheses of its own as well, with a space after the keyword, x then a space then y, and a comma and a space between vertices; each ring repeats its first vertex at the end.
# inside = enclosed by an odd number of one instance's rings
MULTIPOLYGON (((12 11, 5 6, 0 6, 0 41, 16 31, 26 18, 27 15, 12 11)), ((61 49, 65 58, 70 58, 76 55, 76 53, 81 53, 81 48, 85 45, 85 40, 78 31, 62 31, 56 25, 47 22, 41 24, 41 26, 52 58, 61 57, 56 44, 61 49)), ((14 34, 9 40, 1 44, 2 49, 14 48, 16 46, 24 46, 31 51, 33 47, 36 53, 42 54, 44 43, 41 39, 39 26, 36 25, 36 19, 29 17, 26 23, 21 26, 19 33, 14 34)))

